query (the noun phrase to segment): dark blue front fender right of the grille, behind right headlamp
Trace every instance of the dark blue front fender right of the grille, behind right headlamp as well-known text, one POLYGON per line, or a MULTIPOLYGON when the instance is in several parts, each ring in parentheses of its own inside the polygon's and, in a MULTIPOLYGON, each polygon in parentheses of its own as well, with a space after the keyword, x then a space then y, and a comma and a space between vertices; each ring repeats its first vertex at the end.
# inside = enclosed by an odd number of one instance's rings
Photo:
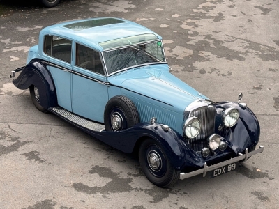
POLYGON ((246 148, 257 145, 260 135, 259 121, 248 107, 240 107, 236 102, 219 102, 216 103, 216 111, 216 133, 229 142, 229 146, 235 153, 243 153, 246 148), (224 127, 223 130, 218 131, 218 126, 222 121, 221 113, 229 107, 239 110, 239 121, 234 127, 224 127))

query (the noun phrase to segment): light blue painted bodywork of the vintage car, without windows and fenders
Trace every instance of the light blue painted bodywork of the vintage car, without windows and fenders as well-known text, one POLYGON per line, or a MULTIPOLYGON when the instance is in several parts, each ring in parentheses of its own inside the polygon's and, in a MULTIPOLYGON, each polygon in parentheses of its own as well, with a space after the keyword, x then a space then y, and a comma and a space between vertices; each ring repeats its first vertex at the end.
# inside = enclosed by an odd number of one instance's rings
POLYGON ((195 100, 206 97, 172 75, 167 63, 135 66, 109 76, 107 72, 100 75, 75 65, 75 43, 99 52, 103 58, 104 49, 98 44, 100 42, 146 33, 153 33, 159 41, 162 38, 150 29, 127 20, 77 31, 65 27, 66 24, 82 21, 84 20, 46 27, 40 31, 38 45, 29 49, 27 64, 32 59, 52 63, 47 65, 47 68, 54 80, 59 106, 84 118, 104 123, 104 110, 108 100, 116 95, 124 95, 134 102, 141 122, 149 122, 152 117, 156 117, 158 123, 169 125, 182 135, 184 110, 195 100), (72 41, 70 63, 43 52, 44 37, 47 35, 60 36, 72 41), (55 65, 68 70, 57 70, 55 65), (71 71, 77 73, 70 73, 71 71), (77 74, 96 79, 98 82, 92 82, 91 79, 77 74))

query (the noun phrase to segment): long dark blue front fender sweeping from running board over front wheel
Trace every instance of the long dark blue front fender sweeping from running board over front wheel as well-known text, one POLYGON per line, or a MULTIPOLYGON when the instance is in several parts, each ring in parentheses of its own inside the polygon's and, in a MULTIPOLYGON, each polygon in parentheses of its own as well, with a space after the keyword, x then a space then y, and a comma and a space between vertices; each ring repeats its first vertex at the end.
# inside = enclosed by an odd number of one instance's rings
MULTIPOLYGON (((63 116, 60 117, 63 118, 63 116)), ((63 119, 68 121, 66 118, 63 119)), ((148 137, 155 139, 165 150, 172 165, 179 170, 184 167, 202 167, 204 164, 202 157, 188 147, 178 132, 171 129, 166 132, 158 123, 139 123, 120 132, 96 132, 75 123, 72 124, 124 153, 137 151, 138 146, 148 137)))

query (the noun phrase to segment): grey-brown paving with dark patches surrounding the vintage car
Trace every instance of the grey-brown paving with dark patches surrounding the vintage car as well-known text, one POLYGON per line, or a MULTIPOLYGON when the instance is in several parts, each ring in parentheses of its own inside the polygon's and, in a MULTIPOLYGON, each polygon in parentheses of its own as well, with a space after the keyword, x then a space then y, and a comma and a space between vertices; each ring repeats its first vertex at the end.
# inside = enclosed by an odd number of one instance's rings
POLYGON ((278 0, 16 2, 0 0, 0 208, 278 208, 278 0), (236 101, 242 92, 259 118, 264 153, 218 178, 161 189, 137 157, 37 111, 10 70, 25 65, 40 29, 89 17, 159 33, 172 73, 211 100, 236 101))

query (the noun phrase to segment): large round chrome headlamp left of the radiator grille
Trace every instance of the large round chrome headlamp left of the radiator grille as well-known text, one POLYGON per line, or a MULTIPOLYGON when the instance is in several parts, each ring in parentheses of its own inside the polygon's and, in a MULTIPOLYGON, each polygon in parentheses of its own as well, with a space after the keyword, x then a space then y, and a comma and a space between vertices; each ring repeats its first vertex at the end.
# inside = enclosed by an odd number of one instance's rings
POLYGON ((191 116, 188 118, 183 125, 183 132, 190 139, 197 137, 200 132, 200 121, 199 118, 191 116))

